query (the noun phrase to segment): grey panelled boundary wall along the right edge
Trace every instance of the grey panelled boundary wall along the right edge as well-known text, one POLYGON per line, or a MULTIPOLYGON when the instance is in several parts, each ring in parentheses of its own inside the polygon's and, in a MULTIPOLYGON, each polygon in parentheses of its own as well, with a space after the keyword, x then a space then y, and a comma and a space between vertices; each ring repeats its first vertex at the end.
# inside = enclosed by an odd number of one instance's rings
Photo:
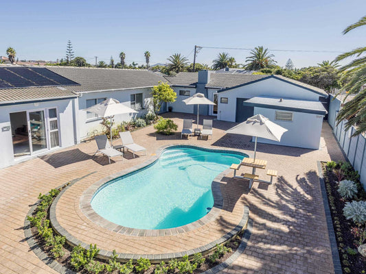
POLYGON ((362 134, 352 137, 356 131, 354 127, 345 130, 345 121, 336 125, 336 115, 341 108, 341 100, 331 95, 328 113, 328 123, 333 129, 347 159, 360 174, 360 181, 366 189, 366 137, 362 134))

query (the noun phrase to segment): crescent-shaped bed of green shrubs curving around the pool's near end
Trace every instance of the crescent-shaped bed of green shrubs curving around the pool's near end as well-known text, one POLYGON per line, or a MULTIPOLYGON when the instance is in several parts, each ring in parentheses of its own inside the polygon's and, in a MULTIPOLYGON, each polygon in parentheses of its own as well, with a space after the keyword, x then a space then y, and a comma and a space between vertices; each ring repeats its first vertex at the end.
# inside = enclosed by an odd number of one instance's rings
MULTIPOLYGON (((62 188, 65 188, 62 186, 62 188)), ((30 221, 30 230, 36 242, 49 258, 53 258, 65 269, 78 273, 202 273, 225 262, 239 247, 244 231, 234 236, 225 245, 216 245, 216 248, 204 256, 196 253, 192 258, 184 256, 180 260, 172 259, 161 264, 152 265, 148 259, 130 260, 125 264, 117 262, 117 253, 113 251, 109 260, 95 258, 99 249, 90 245, 89 249, 80 246, 71 247, 65 242, 65 237, 58 236, 49 225, 49 208, 62 188, 51 190, 47 195, 39 195, 38 203, 27 220, 30 221)), ((49 263, 48 263, 49 264, 49 263)))

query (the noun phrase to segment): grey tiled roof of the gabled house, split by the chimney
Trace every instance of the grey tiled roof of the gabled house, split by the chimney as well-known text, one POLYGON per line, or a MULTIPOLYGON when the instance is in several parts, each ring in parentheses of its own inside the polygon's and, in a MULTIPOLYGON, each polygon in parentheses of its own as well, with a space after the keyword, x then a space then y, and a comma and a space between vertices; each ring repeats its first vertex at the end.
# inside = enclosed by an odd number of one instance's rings
MULTIPOLYGON (((198 82, 198 73, 178 73, 175 76, 164 76, 172 86, 188 86, 195 87, 198 82)), ((206 88, 219 88, 218 92, 231 90, 232 88, 238 88, 255 82, 260 82, 264 79, 275 78, 281 81, 293 84, 301 88, 306 88, 312 92, 316 92, 319 95, 328 97, 328 93, 317 88, 310 86, 303 82, 299 82, 282 75, 260 75, 260 74, 239 74, 239 73, 211 73, 210 80, 206 84, 206 88)))

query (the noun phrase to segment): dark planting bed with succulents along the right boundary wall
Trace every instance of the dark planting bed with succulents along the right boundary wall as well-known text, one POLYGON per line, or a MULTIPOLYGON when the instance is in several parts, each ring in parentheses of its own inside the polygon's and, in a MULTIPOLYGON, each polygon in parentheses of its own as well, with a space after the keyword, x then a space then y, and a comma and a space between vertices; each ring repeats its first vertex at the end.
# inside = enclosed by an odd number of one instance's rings
POLYGON ((366 258, 357 251, 366 240, 365 223, 354 221, 343 211, 345 206, 350 206, 351 201, 366 201, 366 192, 358 180, 359 175, 349 163, 322 162, 321 167, 343 273, 366 273, 366 258), (356 193, 353 197, 346 197, 344 192, 339 191, 339 182, 343 180, 354 182, 356 193))

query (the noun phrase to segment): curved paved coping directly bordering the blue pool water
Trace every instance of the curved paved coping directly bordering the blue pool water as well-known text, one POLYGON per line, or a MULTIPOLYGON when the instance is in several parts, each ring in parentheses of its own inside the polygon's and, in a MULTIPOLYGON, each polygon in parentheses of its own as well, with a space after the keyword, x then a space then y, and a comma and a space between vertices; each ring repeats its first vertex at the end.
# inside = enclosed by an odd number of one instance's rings
POLYGON ((161 153, 163 153, 165 149, 171 149, 174 147, 194 148, 211 152, 234 153, 238 155, 243 155, 243 157, 244 155, 247 155, 246 153, 242 153, 240 151, 231 149, 211 149, 208 147, 200 147, 196 145, 165 145, 163 147, 159 147, 159 149, 157 149, 156 155, 152 156, 145 162, 137 164, 136 166, 133 166, 130 169, 113 173, 112 175, 104 177, 103 179, 100 179, 98 182, 95 182, 94 184, 89 186, 89 188, 87 188, 87 190, 85 190, 82 193, 82 196, 80 198, 80 210, 82 211, 82 213, 85 216, 87 216, 87 218, 91 220, 93 223, 96 223, 101 227, 104 227, 105 229, 111 230, 119 234, 124 234, 127 236, 171 236, 180 233, 190 232, 191 230, 197 229, 198 227, 202 227, 203 225, 216 219, 216 217, 220 214, 223 206, 223 197, 220 190, 220 181, 222 177, 224 177, 225 175, 227 175, 227 173, 229 173, 230 169, 222 171, 222 173, 218 174, 211 183, 211 191, 212 196, 214 198, 214 206, 212 207, 212 209, 201 219, 198 219, 197 221, 194 221, 192 223, 188 223, 187 225, 166 229, 137 229, 133 227, 125 227, 123 225, 117 225, 116 223, 104 219, 91 207, 91 200, 93 199, 95 192, 98 191, 98 189, 100 189, 101 186, 107 184, 113 179, 117 179, 118 177, 122 177, 130 173, 135 173, 137 171, 140 171, 141 169, 147 169, 148 166, 154 164, 155 162, 157 162, 157 160, 159 160, 161 153))

